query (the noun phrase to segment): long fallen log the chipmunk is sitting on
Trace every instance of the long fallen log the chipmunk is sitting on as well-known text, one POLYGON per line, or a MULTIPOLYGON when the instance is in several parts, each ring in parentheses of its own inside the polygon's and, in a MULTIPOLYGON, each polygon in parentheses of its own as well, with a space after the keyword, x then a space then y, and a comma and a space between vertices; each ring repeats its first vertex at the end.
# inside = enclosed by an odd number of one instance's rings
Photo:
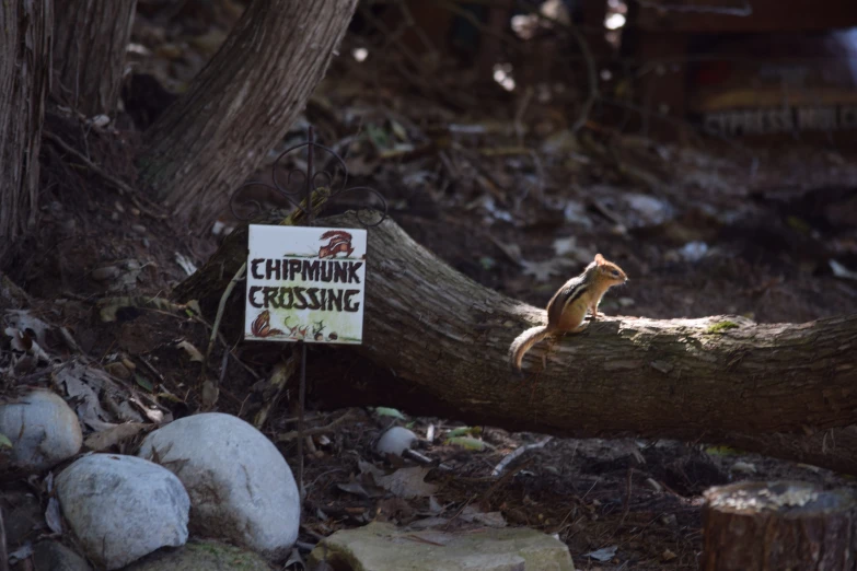
MULTIPOLYGON (((358 228, 354 214, 319 223, 358 228)), ((179 287, 179 301, 210 312, 244 261, 241 240, 179 287)), ((857 473, 857 315, 766 325, 609 316, 566 336, 537 383, 521 383, 507 349, 544 311, 459 273, 392 220, 369 232, 367 272, 359 351, 379 365, 369 384, 392 387, 386 406, 563 436, 721 442, 857 473)), ((224 327, 240 330, 243 300, 233 302, 224 327)), ((534 348, 525 370, 538 371, 543 354, 534 348)))

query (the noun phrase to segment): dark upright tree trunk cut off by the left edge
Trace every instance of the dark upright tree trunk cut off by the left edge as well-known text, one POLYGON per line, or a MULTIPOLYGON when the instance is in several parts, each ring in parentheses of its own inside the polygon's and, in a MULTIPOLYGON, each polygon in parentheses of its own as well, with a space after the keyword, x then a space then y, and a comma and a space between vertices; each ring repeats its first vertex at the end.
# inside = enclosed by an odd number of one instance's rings
POLYGON ((51 0, 0 2, 0 267, 35 222, 53 24, 51 0))

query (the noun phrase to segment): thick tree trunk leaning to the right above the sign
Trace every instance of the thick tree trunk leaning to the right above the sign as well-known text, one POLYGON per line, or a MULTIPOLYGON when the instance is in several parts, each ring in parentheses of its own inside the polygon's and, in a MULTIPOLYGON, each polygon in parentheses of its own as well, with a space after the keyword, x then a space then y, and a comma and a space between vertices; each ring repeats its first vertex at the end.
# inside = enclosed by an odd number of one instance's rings
POLYGON ((324 77, 357 0, 256 0, 147 131, 141 183, 195 228, 281 139, 324 77))

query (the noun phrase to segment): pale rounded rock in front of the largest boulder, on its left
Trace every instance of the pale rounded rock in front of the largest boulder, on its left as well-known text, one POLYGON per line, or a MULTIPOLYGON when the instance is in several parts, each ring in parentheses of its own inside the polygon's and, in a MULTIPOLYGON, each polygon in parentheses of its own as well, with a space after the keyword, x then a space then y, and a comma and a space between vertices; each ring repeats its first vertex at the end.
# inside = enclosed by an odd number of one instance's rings
POLYGON ((173 473, 142 458, 84 456, 57 478, 57 498, 86 557, 107 570, 187 540, 187 492, 173 473))

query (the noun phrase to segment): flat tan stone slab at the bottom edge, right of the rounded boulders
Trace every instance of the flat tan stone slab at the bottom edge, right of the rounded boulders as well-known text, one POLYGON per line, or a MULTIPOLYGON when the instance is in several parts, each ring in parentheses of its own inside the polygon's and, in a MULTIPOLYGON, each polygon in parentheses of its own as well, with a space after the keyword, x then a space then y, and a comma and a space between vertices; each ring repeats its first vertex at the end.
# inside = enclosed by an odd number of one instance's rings
POLYGON ((336 532, 310 553, 334 569, 362 571, 574 571, 565 544, 535 529, 486 528, 478 534, 399 529, 372 522, 336 532), (427 541, 415 540, 414 536, 427 541), (442 547, 439 547, 439 545, 442 547))

